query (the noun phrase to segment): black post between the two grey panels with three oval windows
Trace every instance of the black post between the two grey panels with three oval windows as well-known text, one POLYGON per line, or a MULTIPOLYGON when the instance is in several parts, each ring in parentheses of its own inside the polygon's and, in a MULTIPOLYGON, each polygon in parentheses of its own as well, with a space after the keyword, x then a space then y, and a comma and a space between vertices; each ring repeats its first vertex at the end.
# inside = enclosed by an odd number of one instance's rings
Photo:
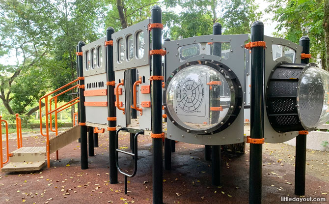
MULTIPOLYGON (((106 40, 112 40, 112 34, 114 33, 114 29, 109 27, 106 29, 106 40)), ((107 58, 107 79, 108 82, 114 81, 114 70, 113 70, 113 47, 107 46, 106 47, 106 58, 107 58)), ((109 117, 116 117, 115 107, 114 107, 114 87, 108 87, 108 116, 109 117)), ((109 121, 109 127, 115 127, 116 120, 109 121)), ((115 131, 109 131, 109 156, 110 156, 110 184, 115 184, 118 182, 118 170, 116 169, 115 163, 115 131)))

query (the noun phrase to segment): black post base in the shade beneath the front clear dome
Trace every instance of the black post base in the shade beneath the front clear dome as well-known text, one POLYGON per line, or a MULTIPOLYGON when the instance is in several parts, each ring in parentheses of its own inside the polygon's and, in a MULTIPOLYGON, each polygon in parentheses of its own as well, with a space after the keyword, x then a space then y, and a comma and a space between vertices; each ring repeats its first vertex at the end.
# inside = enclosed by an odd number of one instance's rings
POLYGON ((211 150, 212 156, 212 184, 220 185, 220 145, 213 145, 211 150))

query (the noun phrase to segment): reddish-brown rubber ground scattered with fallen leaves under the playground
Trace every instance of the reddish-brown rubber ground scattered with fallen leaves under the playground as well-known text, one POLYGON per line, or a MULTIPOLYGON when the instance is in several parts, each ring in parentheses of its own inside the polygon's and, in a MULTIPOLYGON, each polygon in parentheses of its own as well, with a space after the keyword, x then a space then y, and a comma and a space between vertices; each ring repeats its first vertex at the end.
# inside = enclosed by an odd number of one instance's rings
MULTIPOLYGON (((43 146, 42 136, 25 137, 24 146, 43 146)), ((51 168, 33 173, 0 173, 0 204, 151 204, 152 141, 138 138, 137 175, 128 178, 129 195, 124 195, 124 176, 118 184, 109 183, 109 139, 99 137, 95 156, 88 158, 89 169, 80 168, 80 143, 59 150, 59 161, 51 155, 51 168)), ((14 150, 16 140, 10 141, 14 150)), ((122 135, 120 146, 129 145, 129 135, 122 135)), ((130 150, 129 148, 125 150, 130 150)), ((4 150, 5 151, 5 150, 4 150)), ((176 143, 172 170, 164 170, 165 204, 248 204, 249 146, 246 154, 221 154, 221 186, 211 185, 211 162, 204 159, 204 146, 176 143)), ((263 146, 263 204, 281 202, 281 196, 294 197, 295 147, 284 144, 263 146)), ((121 156, 120 156, 121 157, 121 156)), ((305 197, 326 198, 329 204, 329 152, 307 150, 305 197)), ((123 158, 128 167, 131 157, 123 158)), ((132 167, 128 167, 129 172, 132 167)), ((295 202, 297 203, 297 202, 295 202)), ((316 203, 316 202, 307 202, 316 203)), ((321 202, 317 202, 321 203, 321 202)))

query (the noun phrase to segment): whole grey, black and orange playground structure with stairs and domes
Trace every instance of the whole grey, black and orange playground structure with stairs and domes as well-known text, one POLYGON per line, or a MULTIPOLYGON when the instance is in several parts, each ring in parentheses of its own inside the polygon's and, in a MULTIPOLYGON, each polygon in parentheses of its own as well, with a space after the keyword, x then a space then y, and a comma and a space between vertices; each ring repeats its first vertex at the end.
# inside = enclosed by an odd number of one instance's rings
POLYGON ((110 183, 118 182, 119 171, 125 175, 127 193, 127 177, 137 172, 137 137, 150 135, 153 203, 162 204, 163 139, 165 170, 171 169, 175 141, 205 145, 206 159, 212 160, 213 185, 220 185, 220 146, 244 146, 246 142, 250 143, 249 203, 259 204, 262 144, 297 137, 295 194, 304 195, 307 131, 329 120, 329 74, 308 63, 309 39, 302 37, 297 45, 264 36, 264 25, 255 22, 251 42, 246 44, 247 34, 221 35, 221 25, 216 23, 212 35, 165 39, 162 45, 162 29, 161 8, 154 6, 151 19, 117 32, 108 28, 106 37, 86 45, 80 41, 78 78, 39 101, 40 115, 45 101, 46 133, 42 118, 40 132, 46 137, 46 147, 23 147, 17 115, 18 149, 9 153, 7 137, 7 160, 3 162, 0 143, 1 171, 39 170, 45 155, 49 168, 50 154, 56 152, 58 159, 58 149, 78 138, 81 168, 87 169, 88 145, 92 156, 96 138, 93 134, 108 130, 110 183), (57 97, 75 88, 79 97, 57 107, 57 97), (58 134, 57 113, 77 103, 75 126, 58 134), (244 136, 246 110, 250 136, 244 136), (49 119, 52 115, 55 129, 49 119), (120 131, 130 133, 132 153, 118 149, 120 131), (50 132, 55 137, 50 138, 50 132), (119 153, 133 157, 133 174, 120 169, 119 153), (22 158, 30 167, 24 167, 22 158))

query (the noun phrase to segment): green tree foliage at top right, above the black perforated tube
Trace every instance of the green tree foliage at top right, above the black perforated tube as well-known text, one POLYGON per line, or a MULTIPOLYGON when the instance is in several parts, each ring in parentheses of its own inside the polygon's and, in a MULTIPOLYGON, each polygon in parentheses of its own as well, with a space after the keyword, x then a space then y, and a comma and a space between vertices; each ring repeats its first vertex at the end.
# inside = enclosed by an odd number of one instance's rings
MULTIPOLYGON (((276 27, 281 34, 275 32, 274 35, 286 38, 294 43, 299 42, 303 35, 310 38, 310 53, 312 58, 321 58, 322 68, 326 66, 326 47, 323 0, 268 0, 271 6, 266 12, 274 14, 273 20, 279 24, 276 27)), ((325 0, 327 1, 327 0, 325 0)), ((329 49, 327 49, 329 52, 329 49)), ((329 56, 329 55, 327 55, 329 56)))

